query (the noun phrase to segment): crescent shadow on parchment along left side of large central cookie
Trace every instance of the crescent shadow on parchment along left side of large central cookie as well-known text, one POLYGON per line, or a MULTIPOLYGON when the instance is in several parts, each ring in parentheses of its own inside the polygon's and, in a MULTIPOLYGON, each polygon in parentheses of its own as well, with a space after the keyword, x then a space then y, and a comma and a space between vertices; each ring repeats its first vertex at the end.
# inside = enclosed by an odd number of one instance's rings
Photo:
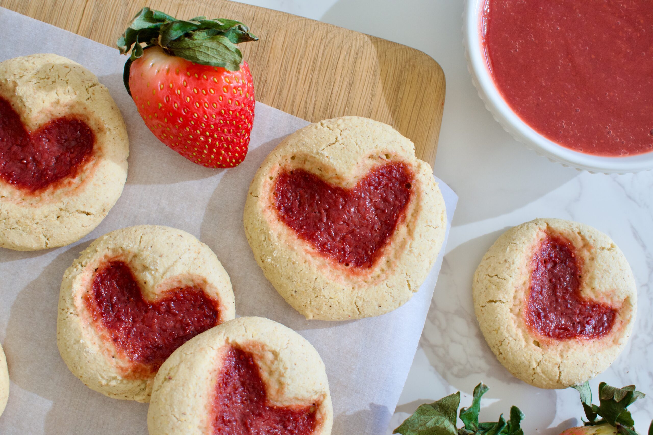
MULTIPOLYGON (((263 162, 281 140, 283 138, 264 143, 249 151, 247 158, 263 162)), ((264 277, 249 248, 242 211, 249 184, 258 169, 259 164, 249 164, 225 172, 206 205, 200 239, 214 250, 231 278, 238 316, 263 316, 295 331, 328 328, 334 323, 306 320, 286 303, 264 277), (230 218, 233 210, 238 210, 238 213, 235 218, 230 218)))

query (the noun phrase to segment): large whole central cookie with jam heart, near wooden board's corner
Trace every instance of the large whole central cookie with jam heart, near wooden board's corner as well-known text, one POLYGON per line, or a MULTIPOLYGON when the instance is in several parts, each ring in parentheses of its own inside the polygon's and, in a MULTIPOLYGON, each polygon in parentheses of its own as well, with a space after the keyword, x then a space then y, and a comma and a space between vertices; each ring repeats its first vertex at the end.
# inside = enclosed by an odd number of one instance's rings
POLYGON ((389 125, 328 119, 268 155, 247 195, 247 240, 266 278, 308 319, 377 316, 406 303, 446 227, 433 172, 389 125))

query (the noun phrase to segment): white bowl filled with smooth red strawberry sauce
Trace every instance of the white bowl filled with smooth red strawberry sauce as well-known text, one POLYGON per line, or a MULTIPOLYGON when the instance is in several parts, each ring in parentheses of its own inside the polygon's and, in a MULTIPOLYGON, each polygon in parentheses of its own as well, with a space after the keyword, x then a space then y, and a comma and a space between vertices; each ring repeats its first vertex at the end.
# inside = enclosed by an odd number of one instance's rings
POLYGON ((505 130, 591 172, 653 168, 653 2, 469 0, 468 65, 505 130))

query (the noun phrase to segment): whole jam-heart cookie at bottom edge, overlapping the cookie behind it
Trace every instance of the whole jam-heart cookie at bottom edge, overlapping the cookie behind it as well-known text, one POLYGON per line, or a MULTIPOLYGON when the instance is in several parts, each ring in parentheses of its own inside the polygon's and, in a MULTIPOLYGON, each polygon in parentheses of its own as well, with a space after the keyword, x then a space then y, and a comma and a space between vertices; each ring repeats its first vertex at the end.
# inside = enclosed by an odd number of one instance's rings
POLYGON ((150 435, 328 435, 322 359, 301 335, 241 317, 189 340, 154 378, 150 435))

